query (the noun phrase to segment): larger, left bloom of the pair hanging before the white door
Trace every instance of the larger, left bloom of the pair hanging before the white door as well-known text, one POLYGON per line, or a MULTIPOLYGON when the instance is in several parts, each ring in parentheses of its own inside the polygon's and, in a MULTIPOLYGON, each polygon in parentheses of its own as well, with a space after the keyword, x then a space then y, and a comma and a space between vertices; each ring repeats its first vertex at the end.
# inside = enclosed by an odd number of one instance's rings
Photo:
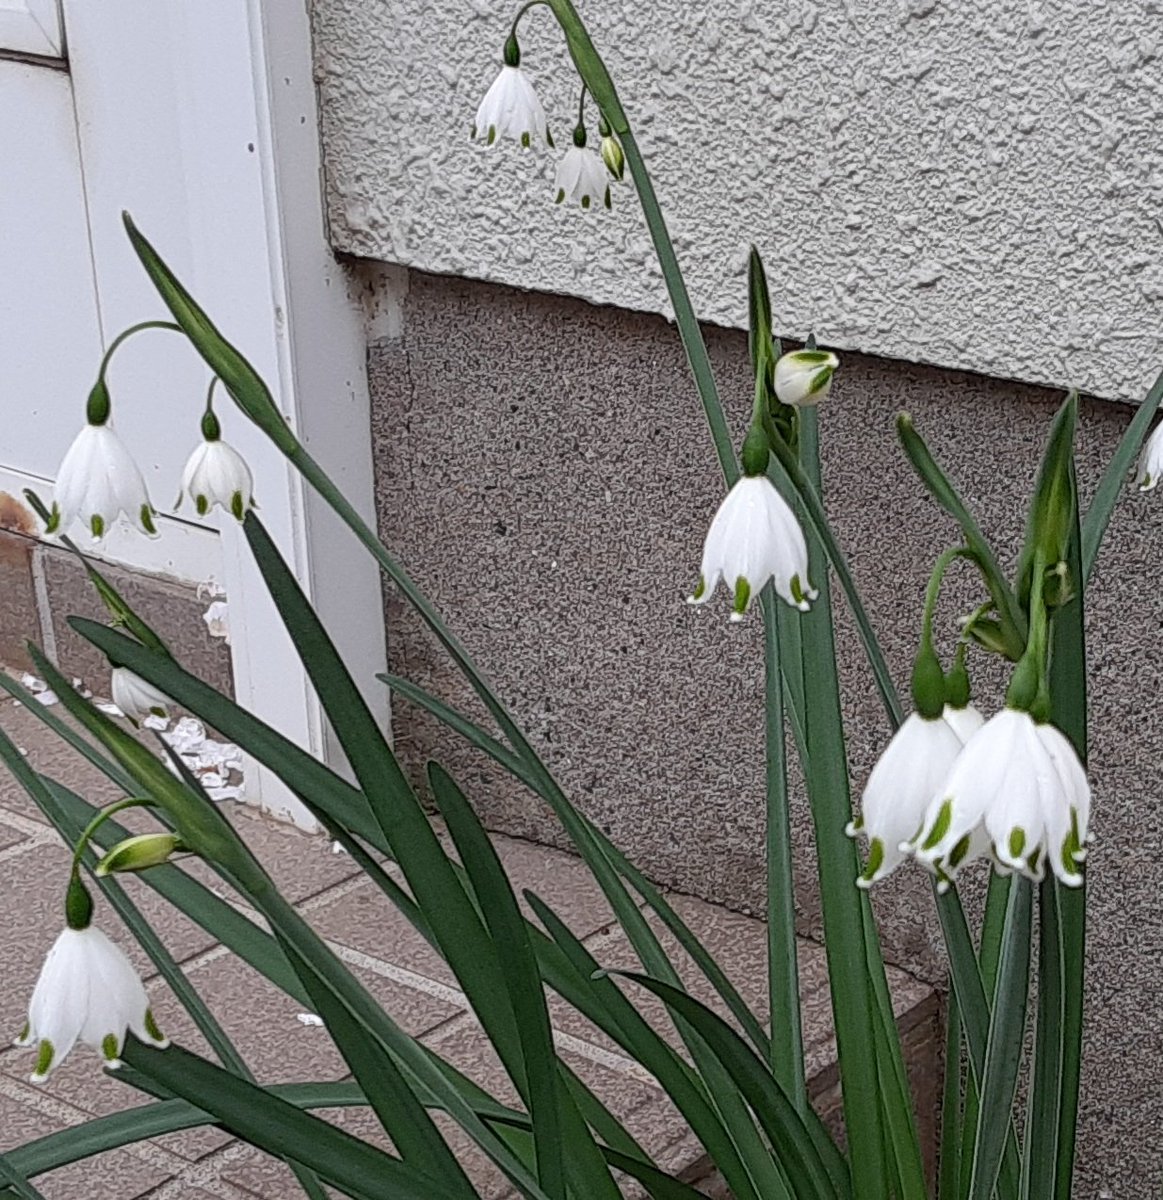
POLYGON ((145 480, 108 422, 86 424, 56 472, 53 511, 46 533, 66 532, 82 521, 100 541, 121 515, 151 538, 154 506, 145 480))

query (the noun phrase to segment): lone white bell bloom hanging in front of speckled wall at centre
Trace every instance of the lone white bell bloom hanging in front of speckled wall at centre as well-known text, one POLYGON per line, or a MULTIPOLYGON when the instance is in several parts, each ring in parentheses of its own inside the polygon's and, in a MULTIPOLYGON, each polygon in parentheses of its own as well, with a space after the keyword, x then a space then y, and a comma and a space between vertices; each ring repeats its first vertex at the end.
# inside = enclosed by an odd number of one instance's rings
POLYGON ((799 522, 766 475, 741 476, 719 505, 689 602, 708 600, 720 578, 735 593, 732 620, 743 619, 768 580, 803 612, 819 594, 808 583, 808 546, 799 522))

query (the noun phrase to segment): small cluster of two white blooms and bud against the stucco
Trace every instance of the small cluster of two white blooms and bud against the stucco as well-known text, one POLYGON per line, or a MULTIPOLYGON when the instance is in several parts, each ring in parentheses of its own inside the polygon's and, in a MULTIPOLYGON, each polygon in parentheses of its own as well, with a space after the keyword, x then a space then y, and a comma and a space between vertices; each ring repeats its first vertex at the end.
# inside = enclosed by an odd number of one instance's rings
MULTIPOLYGON (((545 119, 545 109, 526 73, 521 70, 521 49, 516 34, 504 47, 504 65, 485 92, 473 121, 473 140, 497 145, 506 138, 528 149, 534 144, 553 148, 553 137, 545 119)), ((585 91, 574 127, 572 145, 557 164, 553 194, 558 204, 569 203, 583 209, 610 208, 610 180, 622 179, 624 155, 613 131, 603 116, 599 121, 599 150, 587 145, 583 120, 585 91)))

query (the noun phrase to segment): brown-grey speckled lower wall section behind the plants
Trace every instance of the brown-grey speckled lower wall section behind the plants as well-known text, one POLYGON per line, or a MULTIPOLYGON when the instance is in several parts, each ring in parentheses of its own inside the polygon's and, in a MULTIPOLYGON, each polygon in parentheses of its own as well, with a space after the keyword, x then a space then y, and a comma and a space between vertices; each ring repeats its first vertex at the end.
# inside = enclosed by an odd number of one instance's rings
MULTIPOLYGON (((402 332, 371 348, 380 528, 466 640, 575 800, 657 880, 744 911, 763 895, 759 623, 689 608, 720 497, 678 338, 659 318, 408 272, 402 332), (498 362, 504 362, 504 368, 498 362)), ((709 330, 735 426, 743 335, 709 330)), ((905 685, 933 558, 955 538, 895 446, 910 409, 990 536, 1014 547, 1057 395, 847 355, 821 412, 828 506, 905 685)), ((1128 419, 1084 406, 1085 488, 1128 419)), ((1002 552, 1003 559, 1013 554, 1002 552)), ((1128 492, 1092 586, 1091 973, 1079 1196, 1156 1195, 1163 1177, 1163 498, 1128 492), (1101 1189, 1110 1189, 1103 1193, 1101 1189)), ((951 577, 946 631, 975 600, 951 577)), ((397 598, 392 668, 475 710, 397 598)), ((841 629, 855 778, 887 730, 841 629)), ((1000 702, 996 670, 978 679, 1000 702)), ((398 744, 446 762, 488 823, 559 841, 544 806, 397 701, 398 744)), ((817 931, 808 816, 796 808, 803 931, 817 931)), ((977 881, 981 882, 979 880, 977 881)), ((973 888, 970 887, 970 893, 973 888)), ((891 956, 941 978, 928 887, 877 893, 891 956)), ((972 902, 976 902, 971 896, 972 902)))

